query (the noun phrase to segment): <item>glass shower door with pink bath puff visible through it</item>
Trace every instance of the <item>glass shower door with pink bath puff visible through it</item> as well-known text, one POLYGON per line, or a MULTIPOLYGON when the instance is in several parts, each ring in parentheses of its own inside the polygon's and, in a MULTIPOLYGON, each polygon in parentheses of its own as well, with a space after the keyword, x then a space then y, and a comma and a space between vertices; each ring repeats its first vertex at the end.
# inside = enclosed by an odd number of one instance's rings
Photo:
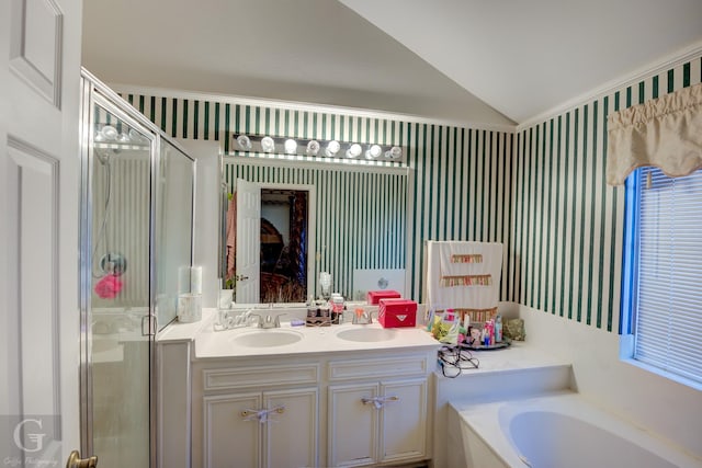
MULTIPOLYGON (((150 465, 151 174, 157 138, 102 95, 90 110, 88 453, 150 465), (146 329, 144 330, 144 327, 146 329)), ((86 127, 84 127, 86 128, 86 127)))

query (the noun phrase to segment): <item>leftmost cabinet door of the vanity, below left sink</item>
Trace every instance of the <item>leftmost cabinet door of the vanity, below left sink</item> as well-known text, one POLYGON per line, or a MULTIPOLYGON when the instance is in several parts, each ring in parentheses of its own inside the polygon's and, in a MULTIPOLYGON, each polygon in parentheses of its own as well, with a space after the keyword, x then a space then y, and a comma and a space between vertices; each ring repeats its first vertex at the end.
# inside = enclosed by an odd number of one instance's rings
POLYGON ((204 397, 203 408, 203 466, 260 466, 261 424, 246 412, 262 408, 261 393, 204 397))

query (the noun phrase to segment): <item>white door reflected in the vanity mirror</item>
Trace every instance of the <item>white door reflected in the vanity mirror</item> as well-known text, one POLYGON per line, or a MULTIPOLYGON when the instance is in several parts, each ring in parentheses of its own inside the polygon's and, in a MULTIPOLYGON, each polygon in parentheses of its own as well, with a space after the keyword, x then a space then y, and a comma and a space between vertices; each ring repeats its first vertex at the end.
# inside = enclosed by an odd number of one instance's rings
POLYGON ((237 179, 236 301, 260 301, 261 275, 261 187, 237 179))

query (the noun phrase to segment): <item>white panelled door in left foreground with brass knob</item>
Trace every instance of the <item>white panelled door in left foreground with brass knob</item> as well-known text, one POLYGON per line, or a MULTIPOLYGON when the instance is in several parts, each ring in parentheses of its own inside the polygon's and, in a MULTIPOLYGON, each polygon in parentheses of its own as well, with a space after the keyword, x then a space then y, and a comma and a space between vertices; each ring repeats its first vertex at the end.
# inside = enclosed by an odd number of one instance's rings
POLYGON ((80 0, 0 2, 0 459, 80 445, 80 0))

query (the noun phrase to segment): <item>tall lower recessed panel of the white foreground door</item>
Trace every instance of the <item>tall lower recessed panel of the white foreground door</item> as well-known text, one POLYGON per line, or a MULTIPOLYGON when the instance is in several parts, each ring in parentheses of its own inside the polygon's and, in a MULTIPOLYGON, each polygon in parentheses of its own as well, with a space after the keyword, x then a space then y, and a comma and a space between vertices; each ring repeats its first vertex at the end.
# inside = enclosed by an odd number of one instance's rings
MULTIPOLYGON (((44 459, 60 461, 60 408, 53 389, 58 388, 58 297, 57 283, 57 204, 58 161, 41 150, 15 139, 9 139, 7 221, 16 228, 19 249, 12 252, 8 266, 11 275, 15 306, 14 315, 18 359, 16 395, 18 419, 15 427, 26 432, 31 426, 43 434, 41 443, 49 453, 44 459), (45 290, 38 290, 44 289, 45 290), (38 293, 38 294, 37 294, 38 293), (30 416, 31 415, 31 416, 30 416), (31 421, 27 421, 31 419, 31 421), (23 423, 24 422, 24 423, 23 423), (41 426, 41 427, 39 427, 41 426)), ((38 444, 38 442, 37 442, 38 444)), ((25 446, 25 448, 29 448, 25 446)), ((39 448, 38 445, 34 448, 39 448)), ((22 450, 24 452, 24 450, 22 450)), ((32 452, 33 453, 33 452, 32 452)))

